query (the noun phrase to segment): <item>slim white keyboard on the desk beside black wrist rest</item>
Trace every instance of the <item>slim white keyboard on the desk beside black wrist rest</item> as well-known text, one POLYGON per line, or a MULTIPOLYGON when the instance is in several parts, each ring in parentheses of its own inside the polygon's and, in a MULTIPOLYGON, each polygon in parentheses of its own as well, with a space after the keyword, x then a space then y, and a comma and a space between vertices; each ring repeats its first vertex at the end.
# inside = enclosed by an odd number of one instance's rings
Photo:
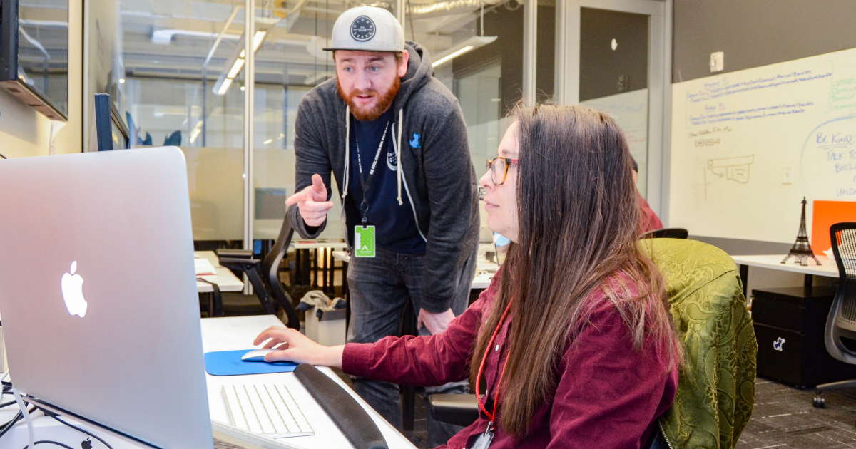
POLYGON ((236 428, 271 438, 315 434, 285 385, 226 385, 223 397, 236 428))

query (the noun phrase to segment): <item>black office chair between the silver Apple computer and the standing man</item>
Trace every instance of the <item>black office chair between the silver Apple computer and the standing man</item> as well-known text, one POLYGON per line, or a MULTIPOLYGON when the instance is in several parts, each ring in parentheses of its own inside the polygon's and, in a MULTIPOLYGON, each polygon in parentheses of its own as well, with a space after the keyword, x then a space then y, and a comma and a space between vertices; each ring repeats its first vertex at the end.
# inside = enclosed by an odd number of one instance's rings
POLYGON ((291 296, 279 281, 279 264, 285 256, 285 251, 288 251, 293 235, 294 229, 288 219, 283 220, 276 243, 263 261, 253 258, 253 251, 250 250, 217 250, 217 257, 223 267, 247 274, 255 295, 223 292, 220 295, 220 304, 217 304, 215 299, 209 315, 276 315, 277 307, 281 307, 288 316, 286 326, 300 329, 300 319, 292 306, 291 296))

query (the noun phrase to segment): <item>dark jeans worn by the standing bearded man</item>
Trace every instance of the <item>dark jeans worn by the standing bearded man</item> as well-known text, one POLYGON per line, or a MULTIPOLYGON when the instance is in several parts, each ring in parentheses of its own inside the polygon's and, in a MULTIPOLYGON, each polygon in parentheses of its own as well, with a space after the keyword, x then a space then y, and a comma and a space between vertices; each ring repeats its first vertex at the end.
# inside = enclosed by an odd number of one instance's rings
MULTIPOLYGON (((455 316, 467 310, 470 287, 476 268, 476 251, 458 273, 457 289, 452 302, 455 316)), ((402 254, 377 247, 375 257, 351 257, 348 265, 348 289, 351 300, 351 325, 348 341, 373 343, 383 337, 395 335, 401 312, 407 301, 419 314, 422 298, 422 274, 425 256, 402 254)), ((429 335, 427 328, 419 335, 429 335)), ((467 381, 450 382, 440 387, 425 387, 425 396, 432 393, 467 393, 467 381)), ((401 430, 401 396, 398 385, 354 377, 354 390, 390 424, 401 430)), ((462 427, 435 422, 428 424, 428 444, 439 446, 449 440, 462 427)))

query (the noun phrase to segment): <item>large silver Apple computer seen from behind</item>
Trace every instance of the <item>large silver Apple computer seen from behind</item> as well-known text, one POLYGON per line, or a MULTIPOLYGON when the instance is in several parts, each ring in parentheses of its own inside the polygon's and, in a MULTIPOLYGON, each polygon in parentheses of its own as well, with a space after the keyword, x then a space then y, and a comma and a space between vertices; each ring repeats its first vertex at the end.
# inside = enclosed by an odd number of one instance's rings
POLYGON ((144 446, 211 449, 181 150, 13 158, 0 192, 15 388, 144 446))

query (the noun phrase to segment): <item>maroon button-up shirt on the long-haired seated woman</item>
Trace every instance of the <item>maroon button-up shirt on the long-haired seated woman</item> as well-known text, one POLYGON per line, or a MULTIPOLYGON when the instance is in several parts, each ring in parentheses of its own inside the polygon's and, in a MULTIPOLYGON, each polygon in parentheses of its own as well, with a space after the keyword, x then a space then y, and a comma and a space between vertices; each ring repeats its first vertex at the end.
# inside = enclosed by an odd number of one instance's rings
MULTIPOLYGON (((494 278, 479 300, 455 318, 442 334, 348 343, 342 369, 352 375, 420 386, 466 380, 467 360, 472 357, 474 342, 490 312, 496 289, 494 278)), ((592 294, 603 298, 599 289, 592 294)), ((591 325, 582 330, 562 357, 556 390, 536 410, 530 433, 516 440, 499 428, 490 449, 638 449, 645 443, 651 429, 657 426, 657 417, 675 399, 677 368, 669 369, 665 356, 655 357, 654 352, 648 351, 652 345, 646 344, 643 351, 633 351, 629 329, 615 306, 609 300, 598 304, 602 305, 591 316, 591 325)), ((505 342, 510 322, 506 318, 484 365, 487 396, 491 399, 508 355, 505 342)), ((502 395, 498 408, 502 414, 502 395)), ((440 447, 469 447, 487 424, 484 412, 479 412, 476 422, 440 447)))

